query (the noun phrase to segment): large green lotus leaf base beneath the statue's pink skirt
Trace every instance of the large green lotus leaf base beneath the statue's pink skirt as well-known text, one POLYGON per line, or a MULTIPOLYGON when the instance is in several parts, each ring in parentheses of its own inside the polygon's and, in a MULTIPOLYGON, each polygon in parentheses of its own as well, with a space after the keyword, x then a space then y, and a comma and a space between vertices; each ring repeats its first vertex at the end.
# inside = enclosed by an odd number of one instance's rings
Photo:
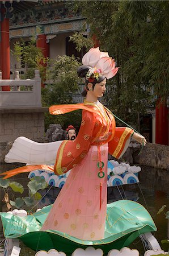
POLYGON ((85 249, 92 246, 101 248, 107 254, 111 249, 129 246, 140 234, 157 230, 149 212, 141 204, 120 200, 107 205, 103 240, 84 241, 57 230, 40 231, 51 207, 44 207, 27 217, 1 213, 4 236, 19 238, 35 251, 57 249, 71 255, 79 247, 85 249))

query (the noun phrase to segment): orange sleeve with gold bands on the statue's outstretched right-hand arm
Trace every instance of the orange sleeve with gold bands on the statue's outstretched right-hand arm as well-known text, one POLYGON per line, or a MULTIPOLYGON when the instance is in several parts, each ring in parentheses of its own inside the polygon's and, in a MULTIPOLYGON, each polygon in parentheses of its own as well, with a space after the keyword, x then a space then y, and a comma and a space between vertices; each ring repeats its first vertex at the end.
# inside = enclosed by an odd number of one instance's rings
POLYGON ((129 146, 134 131, 128 127, 116 127, 112 141, 108 142, 108 151, 113 157, 119 159, 129 146))

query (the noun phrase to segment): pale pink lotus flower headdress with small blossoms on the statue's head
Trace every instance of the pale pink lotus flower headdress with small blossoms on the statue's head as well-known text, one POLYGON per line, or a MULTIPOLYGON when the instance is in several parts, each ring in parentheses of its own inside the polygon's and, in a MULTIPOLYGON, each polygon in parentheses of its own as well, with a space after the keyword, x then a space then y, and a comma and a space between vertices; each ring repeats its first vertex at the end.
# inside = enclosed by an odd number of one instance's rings
POLYGON ((116 67, 115 59, 109 57, 108 52, 100 52, 99 47, 91 48, 83 56, 82 63, 91 67, 86 75, 87 80, 98 80, 101 75, 111 79, 119 69, 116 67))

